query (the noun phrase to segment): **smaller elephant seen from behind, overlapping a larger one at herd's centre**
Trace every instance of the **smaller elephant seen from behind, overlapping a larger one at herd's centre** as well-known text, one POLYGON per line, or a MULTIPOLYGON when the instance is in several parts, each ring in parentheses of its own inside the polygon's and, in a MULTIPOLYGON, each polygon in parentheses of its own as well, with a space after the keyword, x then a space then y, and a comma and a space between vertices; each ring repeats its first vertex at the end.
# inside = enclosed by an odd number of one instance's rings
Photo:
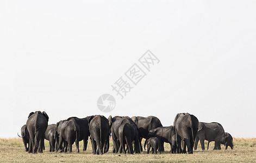
POLYGON ((121 151, 126 154, 126 148, 125 144, 127 145, 128 148, 128 153, 133 154, 133 141, 134 141, 134 149, 135 153, 139 153, 139 137, 138 137, 138 130, 136 126, 133 124, 122 124, 118 128, 118 135, 119 138, 118 140, 120 141, 121 147, 119 148, 118 153, 121 153, 121 151), (122 149, 122 150, 121 150, 122 149))

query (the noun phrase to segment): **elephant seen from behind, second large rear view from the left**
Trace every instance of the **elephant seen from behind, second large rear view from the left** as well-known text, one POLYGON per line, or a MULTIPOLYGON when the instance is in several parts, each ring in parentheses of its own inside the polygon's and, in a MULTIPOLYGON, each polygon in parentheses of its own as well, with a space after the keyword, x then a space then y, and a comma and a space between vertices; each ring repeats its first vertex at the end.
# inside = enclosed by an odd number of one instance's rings
POLYGON ((79 153, 79 136, 80 136, 80 129, 76 121, 69 120, 63 121, 60 128, 60 135, 59 135, 59 150, 60 152, 66 152, 68 147, 68 152, 72 152, 72 145, 75 142, 77 153, 79 153), (61 147, 62 143, 64 142, 64 149, 61 147))

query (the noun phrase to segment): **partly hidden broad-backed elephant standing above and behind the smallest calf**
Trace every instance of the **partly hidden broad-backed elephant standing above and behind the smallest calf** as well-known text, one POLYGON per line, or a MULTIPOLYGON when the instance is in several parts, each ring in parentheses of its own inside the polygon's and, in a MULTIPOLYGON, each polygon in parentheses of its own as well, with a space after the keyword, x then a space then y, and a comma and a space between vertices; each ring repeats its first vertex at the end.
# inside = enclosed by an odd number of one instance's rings
MULTIPOLYGON (((163 127, 160 120, 154 116, 141 117, 141 116, 133 116, 131 117, 133 122, 138 126, 139 132, 139 143, 140 143, 140 151, 142 151, 141 140, 142 138, 147 138, 148 132, 152 129, 163 127)), ((164 145, 161 145, 164 146, 164 145)))

